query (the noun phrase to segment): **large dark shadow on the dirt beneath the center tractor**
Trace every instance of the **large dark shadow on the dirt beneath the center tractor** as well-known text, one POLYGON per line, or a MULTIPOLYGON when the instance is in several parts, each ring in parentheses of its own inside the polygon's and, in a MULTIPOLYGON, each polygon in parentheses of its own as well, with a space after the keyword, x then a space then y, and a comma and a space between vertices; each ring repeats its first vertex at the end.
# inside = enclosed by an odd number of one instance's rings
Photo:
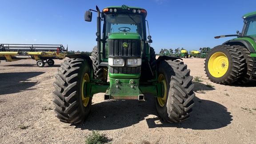
POLYGON ((195 97, 193 112, 188 120, 179 124, 164 122, 156 112, 154 97, 146 94, 145 99, 145 101, 116 100, 93 104, 91 113, 84 123, 71 125, 88 130, 113 130, 146 120, 148 128, 176 127, 206 130, 223 128, 232 121, 231 113, 223 105, 195 97))

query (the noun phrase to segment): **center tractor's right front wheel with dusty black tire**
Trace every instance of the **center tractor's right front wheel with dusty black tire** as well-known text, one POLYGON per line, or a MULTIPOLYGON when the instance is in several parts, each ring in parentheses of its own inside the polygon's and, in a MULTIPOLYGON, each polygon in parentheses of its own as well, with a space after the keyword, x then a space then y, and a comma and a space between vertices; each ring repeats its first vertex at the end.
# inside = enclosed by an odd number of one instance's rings
POLYGON ((193 77, 187 65, 179 60, 163 60, 158 66, 161 97, 155 99, 156 110, 164 121, 179 123, 187 120, 194 105, 193 77))

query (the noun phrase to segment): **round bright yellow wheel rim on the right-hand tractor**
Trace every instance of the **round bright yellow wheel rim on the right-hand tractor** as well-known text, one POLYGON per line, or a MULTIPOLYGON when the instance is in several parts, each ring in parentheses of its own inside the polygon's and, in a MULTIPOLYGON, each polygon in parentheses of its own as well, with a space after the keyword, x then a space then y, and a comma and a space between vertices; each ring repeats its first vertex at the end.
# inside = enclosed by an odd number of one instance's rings
POLYGON ((208 70, 216 78, 224 76, 228 71, 228 57, 222 52, 214 53, 209 59, 208 70))

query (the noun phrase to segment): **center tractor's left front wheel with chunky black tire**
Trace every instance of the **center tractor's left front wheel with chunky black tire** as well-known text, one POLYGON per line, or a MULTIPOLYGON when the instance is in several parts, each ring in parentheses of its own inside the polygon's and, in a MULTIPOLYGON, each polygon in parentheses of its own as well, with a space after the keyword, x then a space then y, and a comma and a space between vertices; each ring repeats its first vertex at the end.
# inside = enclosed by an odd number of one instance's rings
POLYGON ((92 97, 86 97, 84 92, 90 81, 90 70, 88 61, 84 59, 68 59, 60 64, 52 92, 54 111, 60 121, 80 123, 88 117, 92 97))

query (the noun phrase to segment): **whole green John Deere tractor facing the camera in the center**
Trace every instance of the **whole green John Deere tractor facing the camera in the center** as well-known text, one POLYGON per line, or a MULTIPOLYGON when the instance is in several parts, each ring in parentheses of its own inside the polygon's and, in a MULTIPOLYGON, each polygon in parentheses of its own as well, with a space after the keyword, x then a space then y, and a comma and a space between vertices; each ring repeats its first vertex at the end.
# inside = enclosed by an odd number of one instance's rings
POLYGON ((160 56, 150 47, 143 8, 107 7, 85 12, 85 21, 97 12, 97 46, 92 58, 67 55, 58 68, 53 91, 54 111, 63 122, 83 122, 91 110, 92 96, 105 92, 105 100, 144 100, 155 96, 156 110, 164 121, 187 120, 194 105, 192 76, 180 58, 160 56), (103 32, 101 33, 101 23, 103 32), (109 76, 109 80, 107 79, 109 76))

